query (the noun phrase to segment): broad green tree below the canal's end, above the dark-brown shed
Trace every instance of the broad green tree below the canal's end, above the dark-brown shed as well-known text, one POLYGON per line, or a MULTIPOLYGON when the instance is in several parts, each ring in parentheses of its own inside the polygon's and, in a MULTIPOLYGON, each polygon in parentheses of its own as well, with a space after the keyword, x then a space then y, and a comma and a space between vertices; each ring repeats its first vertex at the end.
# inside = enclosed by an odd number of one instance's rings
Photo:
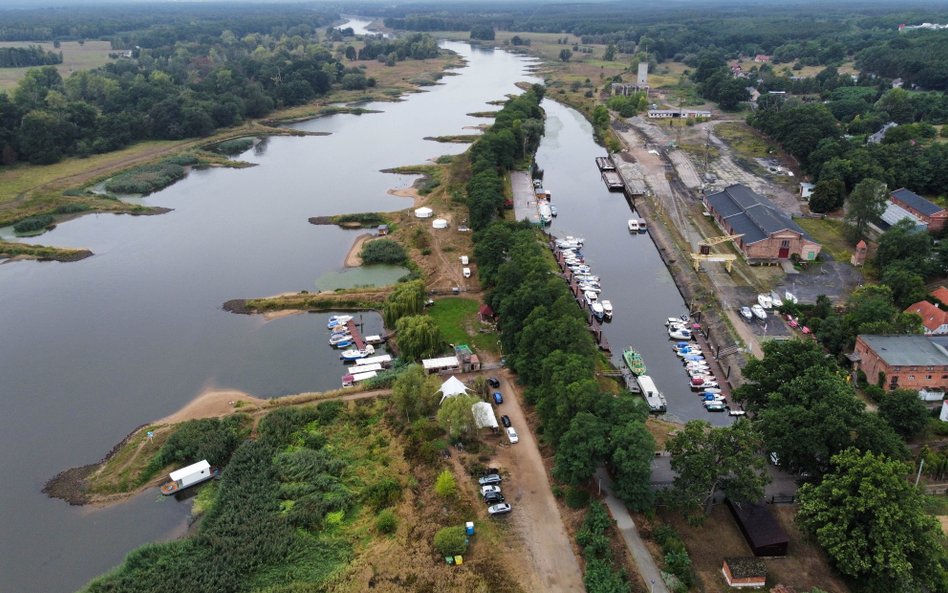
POLYGON ((714 497, 723 492, 737 501, 757 501, 769 481, 760 434, 747 420, 727 428, 712 428, 692 420, 668 441, 675 483, 672 496, 685 509, 711 512, 714 497))

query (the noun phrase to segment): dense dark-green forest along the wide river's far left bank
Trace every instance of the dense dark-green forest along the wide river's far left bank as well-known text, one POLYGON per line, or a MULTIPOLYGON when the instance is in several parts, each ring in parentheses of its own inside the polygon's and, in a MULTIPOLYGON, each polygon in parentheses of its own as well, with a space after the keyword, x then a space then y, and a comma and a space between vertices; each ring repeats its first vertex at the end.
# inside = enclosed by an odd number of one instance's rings
MULTIPOLYGON (((133 60, 65 80, 52 66, 30 70, 12 95, 0 93, 0 163, 48 164, 139 140, 207 136, 334 86, 374 86, 308 30, 195 35, 187 44, 138 48, 133 60)), ((398 59, 437 51, 421 34, 385 47, 398 59)))

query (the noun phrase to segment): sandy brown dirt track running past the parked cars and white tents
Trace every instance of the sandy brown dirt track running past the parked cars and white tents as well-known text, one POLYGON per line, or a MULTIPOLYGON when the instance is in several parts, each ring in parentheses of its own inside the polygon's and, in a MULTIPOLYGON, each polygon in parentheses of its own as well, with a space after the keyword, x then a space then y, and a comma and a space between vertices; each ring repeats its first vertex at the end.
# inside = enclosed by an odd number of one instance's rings
MULTIPOLYGON (((504 496, 513 507, 508 519, 516 527, 520 545, 526 550, 523 559, 529 562, 528 591, 584 591, 579 561, 573 551, 569 535, 560 517, 550 481, 543 466, 543 458, 536 439, 520 407, 520 392, 509 371, 498 373, 504 403, 498 414, 510 417, 520 441, 501 447, 494 460, 497 466, 509 472, 502 484, 504 496)), ((507 443, 506 437, 504 443, 507 443)))

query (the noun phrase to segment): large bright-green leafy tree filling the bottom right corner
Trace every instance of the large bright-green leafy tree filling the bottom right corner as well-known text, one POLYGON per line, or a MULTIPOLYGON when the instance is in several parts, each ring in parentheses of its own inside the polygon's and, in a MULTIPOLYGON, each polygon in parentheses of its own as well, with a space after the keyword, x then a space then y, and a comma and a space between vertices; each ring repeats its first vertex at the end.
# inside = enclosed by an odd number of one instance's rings
POLYGON ((819 485, 800 489, 797 522, 836 568, 868 591, 946 590, 938 524, 905 479, 909 466, 855 449, 832 465, 819 485))

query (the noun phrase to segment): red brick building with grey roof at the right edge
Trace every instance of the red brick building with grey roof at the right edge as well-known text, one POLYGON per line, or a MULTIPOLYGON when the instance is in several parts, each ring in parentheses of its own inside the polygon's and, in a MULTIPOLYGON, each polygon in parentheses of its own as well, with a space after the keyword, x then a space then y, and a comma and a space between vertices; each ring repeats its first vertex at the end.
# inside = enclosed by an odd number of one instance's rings
POLYGON ((872 385, 892 389, 948 389, 948 336, 856 337, 854 354, 872 385))

